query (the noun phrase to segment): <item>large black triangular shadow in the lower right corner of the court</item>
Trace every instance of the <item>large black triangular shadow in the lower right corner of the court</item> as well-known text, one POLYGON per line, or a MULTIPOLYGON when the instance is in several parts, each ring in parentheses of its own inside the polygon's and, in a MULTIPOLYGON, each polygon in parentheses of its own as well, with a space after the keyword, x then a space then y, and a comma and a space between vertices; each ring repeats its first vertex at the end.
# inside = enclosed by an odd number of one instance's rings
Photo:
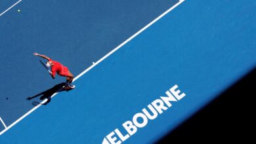
POLYGON ((157 143, 182 143, 184 137, 189 137, 190 142, 204 143, 208 142, 205 139, 252 141, 255 78, 256 68, 157 143))

